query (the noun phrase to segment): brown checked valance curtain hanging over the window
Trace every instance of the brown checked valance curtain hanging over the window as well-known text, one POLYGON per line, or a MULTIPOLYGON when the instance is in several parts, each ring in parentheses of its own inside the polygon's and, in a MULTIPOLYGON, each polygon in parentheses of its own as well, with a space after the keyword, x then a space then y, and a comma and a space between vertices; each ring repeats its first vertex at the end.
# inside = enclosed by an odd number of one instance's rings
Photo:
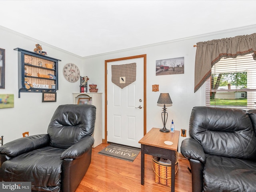
POLYGON ((256 60, 256 33, 198 42, 196 44, 195 87, 196 92, 210 77, 211 69, 220 58, 236 58, 252 53, 256 60))

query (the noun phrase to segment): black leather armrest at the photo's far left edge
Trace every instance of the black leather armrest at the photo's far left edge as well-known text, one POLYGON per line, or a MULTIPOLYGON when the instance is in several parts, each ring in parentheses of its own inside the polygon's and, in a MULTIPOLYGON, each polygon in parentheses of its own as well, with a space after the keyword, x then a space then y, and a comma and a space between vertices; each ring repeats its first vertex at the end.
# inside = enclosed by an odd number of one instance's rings
POLYGON ((22 137, 8 142, 0 147, 0 153, 8 157, 15 157, 20 154, 42 148, 50 143, 48 134, 32 135, 22 137))

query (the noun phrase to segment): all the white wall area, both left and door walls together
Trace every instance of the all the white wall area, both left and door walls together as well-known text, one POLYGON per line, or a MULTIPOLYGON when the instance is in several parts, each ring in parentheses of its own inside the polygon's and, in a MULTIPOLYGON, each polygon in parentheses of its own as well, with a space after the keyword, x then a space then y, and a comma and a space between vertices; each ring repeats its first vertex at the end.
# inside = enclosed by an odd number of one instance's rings
MULTIPOLYGON (((89 84, 98 85, 98 92, 103 93, 104 112, 105 60, 147 54, 147 131, 152 127, 162 128, 162 108, 157 106, 157 100, 161 92, 169 92, 173 104, 167 109, 167 127, 173 119, 175 129, 186 129, 188 136, 192 108, 205 105, 204 86, 194 93, 196 48, 193 45, 200 41, 252 34, 255 30, 256 25, 80 58, 39 40, 0 27, 0 48, 6 50, 6 86, 5 89, 0 89, 0 94, 14 94, 14 108, 0 109, 0 135, 4 135, 4 143, 6 143, 22 137, 25 131, 29 131, 30 135, 46 133, 56 107, 60 104, 72 103, 72 93, 79 92, 79 81, 70 83, 64 79, 62 70, 65 64, 69 62, 76 64, 80 68, 81 75, 90 78, 89 84), (19 47, 32 51, 36 43, 42 45, 48 56, 62 60, 59 62, 59 90, 56 103, 42 103, 40 93, 21 93, 18 98, 18 52, 13 49, 19 47), (184 57, 184 74, 156 76, 156 60, 176 57, 184 57), (152 92, 153 84, 159 84, 159 92, 152 92)), ((103 138, 104 134, 103 122, 103 138)), ((183 139, 184 137, 180 137, 179 146, 183 139)))

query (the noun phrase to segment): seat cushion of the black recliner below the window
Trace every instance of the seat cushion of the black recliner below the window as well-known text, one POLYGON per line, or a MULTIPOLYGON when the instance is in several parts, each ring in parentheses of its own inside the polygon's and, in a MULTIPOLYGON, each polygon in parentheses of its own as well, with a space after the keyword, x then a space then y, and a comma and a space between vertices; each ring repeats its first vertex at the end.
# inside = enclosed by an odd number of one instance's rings
POLYGON ((256 189, 256 162, 208 156, 204 165, 204 192, 252 192, 256 189))

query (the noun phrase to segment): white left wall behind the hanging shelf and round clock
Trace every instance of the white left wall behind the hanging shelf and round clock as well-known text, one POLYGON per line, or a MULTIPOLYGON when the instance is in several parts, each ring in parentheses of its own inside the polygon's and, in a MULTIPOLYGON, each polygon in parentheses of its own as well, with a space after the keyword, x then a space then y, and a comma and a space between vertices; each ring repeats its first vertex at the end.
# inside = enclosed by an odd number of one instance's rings
POLYGON ((70 83, 65 80, 63 67, 71 62, 82 69, 82 58, 1 26, 0 48, 5 49, 6 54, 5 89, 0 89, 0 94, 14 94, 14 108, 0 109, 0 136, 4 136, 6 143, 22 137, 22 133, 26 131, 30 135, 46 133, 57 106, 72 103, 72 92, 79 92, 80 82, 70 83), (42 45, 48 56, 62 60, 58 66, 57 102, 42 103, 42 93, 20 93, 18 98, 18 52, 14 48, 33 51, 37 43, 42 45))

